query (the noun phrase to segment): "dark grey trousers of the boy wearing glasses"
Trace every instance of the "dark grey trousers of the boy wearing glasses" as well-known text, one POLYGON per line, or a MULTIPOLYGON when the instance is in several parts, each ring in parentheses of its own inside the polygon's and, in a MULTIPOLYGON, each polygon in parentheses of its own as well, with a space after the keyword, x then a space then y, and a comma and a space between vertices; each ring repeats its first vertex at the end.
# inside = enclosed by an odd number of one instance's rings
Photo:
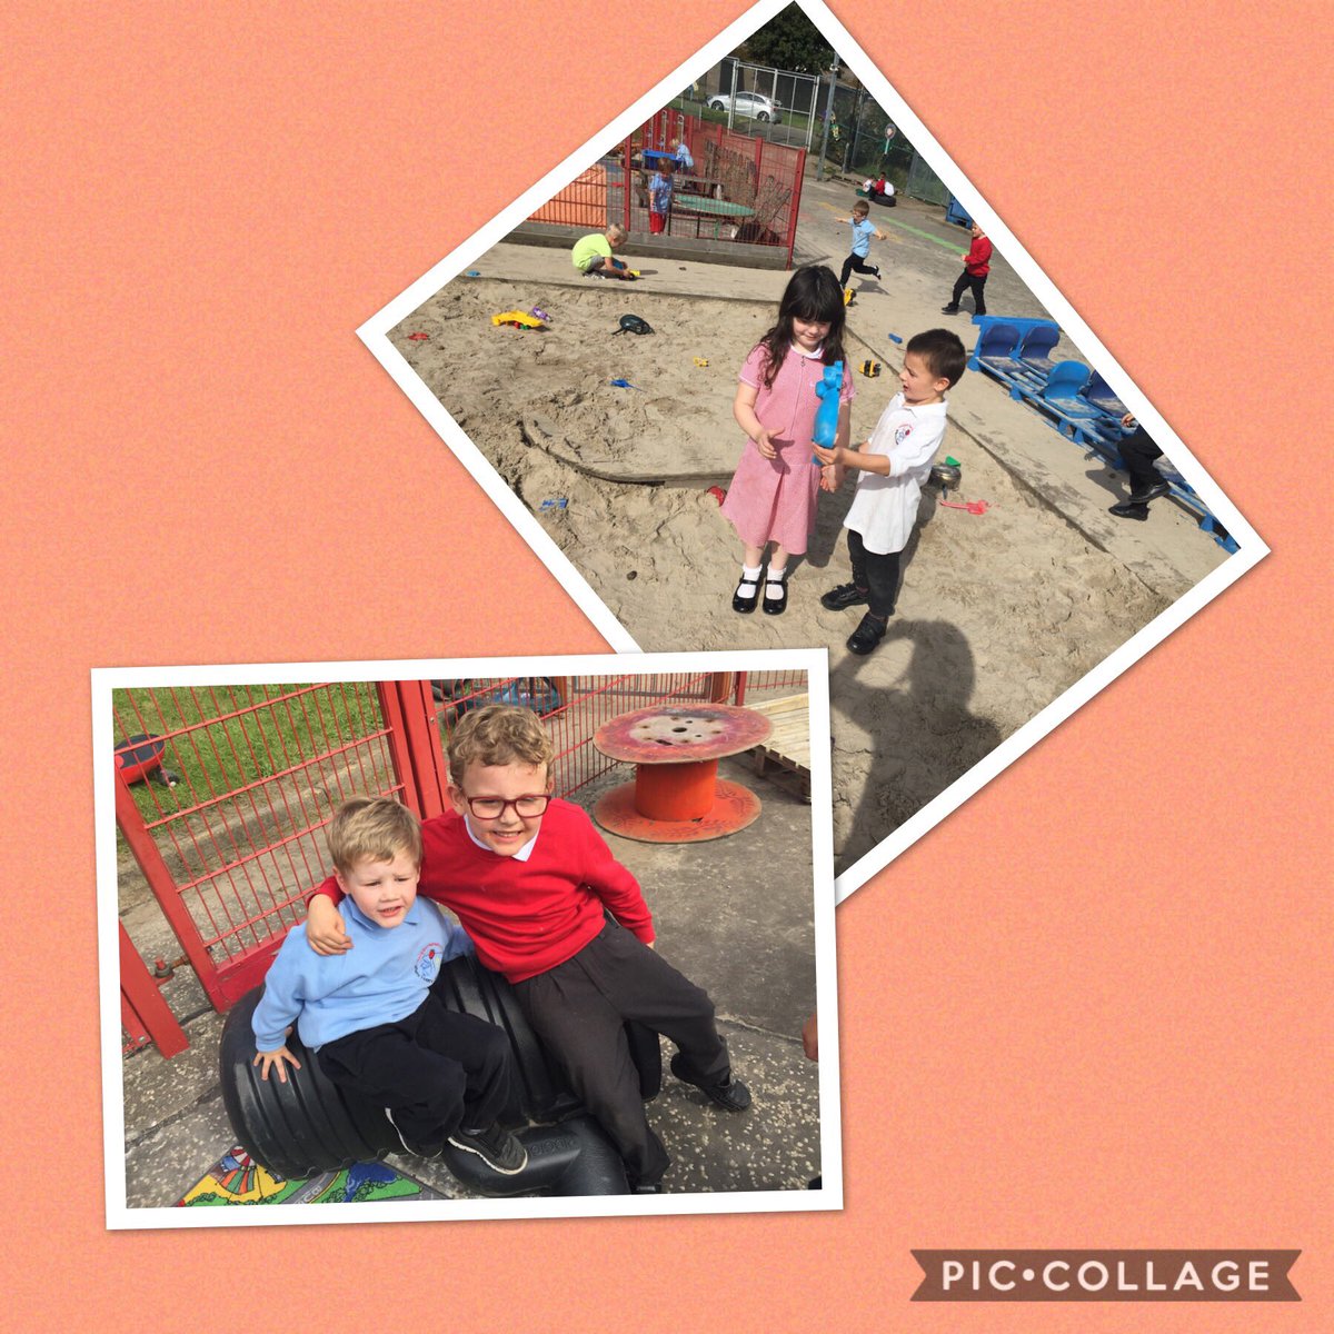
POLYGON ((534 1033, 620 1151, 630 1178, 658 1182, 671 1158, 644 1115, 624 1022, 638 1019, 675 1042, 699 1083, 724 1083, 731 1062, 708 992, 615 922, 572 959, 514 990, 534 1033))

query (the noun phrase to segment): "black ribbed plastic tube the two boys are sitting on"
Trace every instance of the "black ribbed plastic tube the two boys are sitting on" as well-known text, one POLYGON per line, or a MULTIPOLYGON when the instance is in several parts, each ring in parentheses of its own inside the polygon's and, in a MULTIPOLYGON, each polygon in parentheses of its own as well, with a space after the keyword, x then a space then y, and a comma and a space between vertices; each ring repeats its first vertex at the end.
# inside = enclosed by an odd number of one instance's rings
MULTIPOLYGON (((527 1167, 504 1177, 475 1154, 447 1147, 444 1162, 459 1182, 484 1195, 627 1194, 619 1153, 548 1062, 510 984, 472 955, 463 955, 446 964, 436 988, 447 1009, 499 1025, 510 1035, 519 1106, 503 1119, 528 1150, 527 1167)), ((287 1046, 301 1069, 289 1069, 287 1083, 260 1078, 251 1063, 251 1015, 260 995, 256 987, 232 1007, 219 1051, 223 1105, 237 1143, 257 1163, 288 1179, 402 1153, 384 1109, 329 1081, 295 1033, 287 1046)), ((627 1023, 626 1037, 640 1095, 652 1099, 662 1089, 658 1034, 627 1023)))

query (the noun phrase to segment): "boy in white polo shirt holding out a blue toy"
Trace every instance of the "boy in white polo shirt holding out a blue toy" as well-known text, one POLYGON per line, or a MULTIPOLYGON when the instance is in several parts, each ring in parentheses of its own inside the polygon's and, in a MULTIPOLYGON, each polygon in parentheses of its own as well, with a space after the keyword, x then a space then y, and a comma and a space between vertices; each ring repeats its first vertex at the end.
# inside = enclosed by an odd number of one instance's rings
POLYGON ((958 384, 968 354, 956 334, 927 329, 908 339, 899 372, 902 388, 880 414, 870 440, 856 450, 815 446, 820 463, 834 464, 834 484, 858 468, 856 495, 843 520, 852 582, 831 588, 820 606, 830 611, 866 606, 848 636, 854 654, 868 654, 884 638, 899 587, 899 554, 916 523, 922 483, 944 440, 946 391, 958 384))

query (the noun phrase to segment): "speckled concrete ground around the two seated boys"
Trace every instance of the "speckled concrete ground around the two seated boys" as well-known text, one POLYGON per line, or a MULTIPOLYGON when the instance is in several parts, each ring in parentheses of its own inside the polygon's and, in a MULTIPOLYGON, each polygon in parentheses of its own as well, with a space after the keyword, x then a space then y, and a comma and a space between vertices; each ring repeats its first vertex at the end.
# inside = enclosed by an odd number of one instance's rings
MULTIPOLYGON (((816 1067, 800 1043, 815 1007, 812 812, 739 760, 724 760, 720 774, 760 796, 763 811, 750 828, 698 844, 615 835, 607 842, 644 888, 660 952, 714 998, 734 1070, 754 1103, 739 1115, 715 1109, 667 1073, 671 1045, 664 1043, 663 1091, 648 1119, 674 1159, 667 1193, 804 1190, 820 1171, 816 1067)), ((574 799, 591 806, 628 776, 627 768, 612 771, 574 799)), ((149 962, 179 954, 156 903, 141 903, 121 920, 149 962)), ((164 995, 191 1045, 172 1061, 145 1047, 121 1062, 131 1209, 175 1205, 236 1143, 217 1077, 223 1017, 189 968, 176 970, 164 995)), ((475 1198, 443 1163, 390 1161, 435 1197, 475 1198)))

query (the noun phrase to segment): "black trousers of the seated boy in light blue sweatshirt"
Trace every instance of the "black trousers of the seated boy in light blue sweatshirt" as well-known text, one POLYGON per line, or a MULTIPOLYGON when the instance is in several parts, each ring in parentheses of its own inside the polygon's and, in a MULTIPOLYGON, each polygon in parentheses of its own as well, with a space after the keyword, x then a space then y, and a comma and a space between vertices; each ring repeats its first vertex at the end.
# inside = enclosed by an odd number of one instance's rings
POLYGON ((408 1139, 431 1147, 460 1126, 488 1130, 514 1095, 506 1033, 434 994, 406 1019, 327 1042, 316 1058, 334 1083, 388 1107, 408 1139))

